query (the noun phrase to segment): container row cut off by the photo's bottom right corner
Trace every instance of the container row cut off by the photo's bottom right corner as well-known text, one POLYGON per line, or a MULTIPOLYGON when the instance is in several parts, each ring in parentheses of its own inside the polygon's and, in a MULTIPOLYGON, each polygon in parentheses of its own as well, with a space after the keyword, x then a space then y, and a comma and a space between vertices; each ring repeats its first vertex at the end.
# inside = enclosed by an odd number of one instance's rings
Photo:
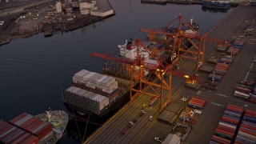
POLYGON ((256 111, 246 110, 235 143, 256 143, 256 111))

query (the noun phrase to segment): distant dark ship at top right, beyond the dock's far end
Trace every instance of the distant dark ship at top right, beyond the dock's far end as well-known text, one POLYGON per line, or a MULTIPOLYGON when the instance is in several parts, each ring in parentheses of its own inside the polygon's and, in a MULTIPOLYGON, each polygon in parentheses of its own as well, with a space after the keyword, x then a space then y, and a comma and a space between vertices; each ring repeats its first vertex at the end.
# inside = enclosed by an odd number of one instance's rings
POLYGON ((226 1, 203 1, 202 8, 229 10, 230 2, 226 1))

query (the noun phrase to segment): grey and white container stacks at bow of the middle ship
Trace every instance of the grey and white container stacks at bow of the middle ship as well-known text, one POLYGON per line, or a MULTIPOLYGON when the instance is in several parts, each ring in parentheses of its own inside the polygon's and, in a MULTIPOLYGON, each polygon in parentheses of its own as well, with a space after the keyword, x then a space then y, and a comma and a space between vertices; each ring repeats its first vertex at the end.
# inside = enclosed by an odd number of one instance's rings
POLYGON ((71 112, 79 114, 105 114, 119 99, 115 78, 81 70, 74 74, 73 86, 62 91, 63 102, 71 112))

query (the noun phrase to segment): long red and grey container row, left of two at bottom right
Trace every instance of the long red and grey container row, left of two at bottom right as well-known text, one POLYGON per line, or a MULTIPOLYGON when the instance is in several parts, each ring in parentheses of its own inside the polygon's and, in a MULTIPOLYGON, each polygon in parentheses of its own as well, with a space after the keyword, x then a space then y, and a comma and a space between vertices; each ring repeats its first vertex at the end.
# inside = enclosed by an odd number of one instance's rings
POLYGON ((240 106, 228 104, 222 115, 222 119, 218 122, 218 127, 215 129, 214 135, 210 143, 231 143, 236 137, 236 130, 240 123, 243 109, 240 106))

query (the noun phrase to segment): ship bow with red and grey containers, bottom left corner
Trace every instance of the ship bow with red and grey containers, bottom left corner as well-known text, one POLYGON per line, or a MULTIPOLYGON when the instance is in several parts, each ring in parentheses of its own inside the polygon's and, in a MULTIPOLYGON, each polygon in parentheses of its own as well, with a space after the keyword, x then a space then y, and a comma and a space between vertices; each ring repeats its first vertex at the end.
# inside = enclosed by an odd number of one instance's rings
POLYGON ((68 119, 68 114, 62 110, 36 116, 22 113, 9 122, 0 121, 0 143, 57 143, 68 119))

